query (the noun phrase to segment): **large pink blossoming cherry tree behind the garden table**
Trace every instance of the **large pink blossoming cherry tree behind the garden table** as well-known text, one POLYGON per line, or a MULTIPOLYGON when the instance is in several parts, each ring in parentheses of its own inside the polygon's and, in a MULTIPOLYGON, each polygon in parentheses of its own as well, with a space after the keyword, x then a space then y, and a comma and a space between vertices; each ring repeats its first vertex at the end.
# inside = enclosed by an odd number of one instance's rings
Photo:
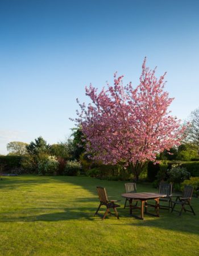
POLYGON ((155 69, 142 65, 140 84, 123 86, 122 77, 114 75, 114 85, 101 92, 92 85, 86 95, 92 103, 80 105, 75 119, 86 142, 86 152, 104 164, 130 167, 136 180, 148 160, 156 161, 163 150, 178 146, 185 126, 172 117, 168 107, 173 101, 164 92, 164 77, 155 76, 155 69))

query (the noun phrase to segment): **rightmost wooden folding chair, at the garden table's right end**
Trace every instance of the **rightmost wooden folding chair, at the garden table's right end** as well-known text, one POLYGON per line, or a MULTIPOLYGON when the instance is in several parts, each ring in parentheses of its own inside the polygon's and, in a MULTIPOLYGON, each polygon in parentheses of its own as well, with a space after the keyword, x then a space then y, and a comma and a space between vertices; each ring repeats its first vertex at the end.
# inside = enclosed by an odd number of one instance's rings
MULTIPOLYGON (((192 195, 193 195, 193 189, 194 188, 192 186, 185 185, 184 191, 183 191, 183 196, 177 196, 176 201, 172 201, 173 207, 172 207, 171 212, 173 212, 176 204, 179 204, 179 205, 181 205, 181 210, 180 210, 179 216, 181 215, 183 210, 185 212, 192 212, 194 215, 196 215, 196 213, 194 213, 192 206, 190 205, 190 201, 192 200, 192 195), (185 209, 185 205, 189 205, 191 210, 185 209)), ((176 210, 176 212, 177 212, 177 210, 176 210)))

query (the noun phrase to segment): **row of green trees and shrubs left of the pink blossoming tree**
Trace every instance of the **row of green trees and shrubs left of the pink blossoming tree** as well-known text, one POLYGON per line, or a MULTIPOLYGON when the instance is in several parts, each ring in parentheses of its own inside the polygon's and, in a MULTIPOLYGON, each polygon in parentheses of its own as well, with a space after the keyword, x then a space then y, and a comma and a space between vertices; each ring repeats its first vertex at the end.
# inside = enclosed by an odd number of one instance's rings
POLYGON ((9 154, 0 156, 0 173, 39 174, 39 175, 77 175, 81 165, 78 162, 84 151, 80 147, 81 131, 72 129, 72 135, 65 142, 48 144, 38 137, 31 143, 10 142, 9 154))

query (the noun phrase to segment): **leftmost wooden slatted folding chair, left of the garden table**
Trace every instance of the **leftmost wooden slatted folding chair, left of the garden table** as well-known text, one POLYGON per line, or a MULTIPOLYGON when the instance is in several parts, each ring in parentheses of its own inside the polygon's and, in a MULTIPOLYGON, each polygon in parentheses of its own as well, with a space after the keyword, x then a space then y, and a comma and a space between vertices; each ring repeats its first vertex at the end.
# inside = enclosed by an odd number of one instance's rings
POLYGON ((107 197, 105 188, 97 187, 97 193, 98 193, 98 196, 99 196, 100 204, 99 204, 99 207, 97 208, 96 213, 94 214, 94 216, 96 216, 96 214, 98 213, 99 208, 102 205, 105 205, 106 206, 106 212, 105 212, 105 214, 103 214, 102 220, 105 219, 107 213, 111 214, 111 212, 109 210, 110 208, 114 209, 116 217, 119 218, 118 212, 117 212, 117 207, 120 207, 120 205, 115 204, 115 202, 117 202, 117 200, 109 200, 108 197, 107 197))

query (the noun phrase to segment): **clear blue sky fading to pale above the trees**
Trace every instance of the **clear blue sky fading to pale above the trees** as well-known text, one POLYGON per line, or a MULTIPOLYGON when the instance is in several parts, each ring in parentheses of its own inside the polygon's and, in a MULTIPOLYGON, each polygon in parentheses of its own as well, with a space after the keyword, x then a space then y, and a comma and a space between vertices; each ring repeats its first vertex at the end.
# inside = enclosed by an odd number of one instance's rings
POLYGON ((0 1, 0 154, 10 141, 63 141, 76 98, 125 75, 138 85, 144 56, 168 72, 173 115, 199 106, 198 1, 0 1))

